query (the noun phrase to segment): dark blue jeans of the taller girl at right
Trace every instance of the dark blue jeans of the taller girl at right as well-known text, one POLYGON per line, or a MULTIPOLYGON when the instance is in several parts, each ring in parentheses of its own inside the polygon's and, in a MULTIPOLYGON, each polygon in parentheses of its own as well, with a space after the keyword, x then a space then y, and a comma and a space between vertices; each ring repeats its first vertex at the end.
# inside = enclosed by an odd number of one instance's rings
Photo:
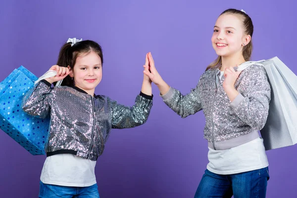
POLYGON ((231 175, 205 170, 195 198, 265 198, 268 167, 231 175))

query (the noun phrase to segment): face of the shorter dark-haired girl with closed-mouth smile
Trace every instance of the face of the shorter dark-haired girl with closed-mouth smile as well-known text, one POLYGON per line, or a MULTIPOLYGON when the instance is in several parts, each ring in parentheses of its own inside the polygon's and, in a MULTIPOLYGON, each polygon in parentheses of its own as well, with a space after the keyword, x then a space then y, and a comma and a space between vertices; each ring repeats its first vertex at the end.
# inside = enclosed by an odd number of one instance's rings
POLYGON ((75 62, 73 70, 70 71, 76 87, 94 95, 95 87, 102 79, 101 58, 94 51, 80 54, 75 62))

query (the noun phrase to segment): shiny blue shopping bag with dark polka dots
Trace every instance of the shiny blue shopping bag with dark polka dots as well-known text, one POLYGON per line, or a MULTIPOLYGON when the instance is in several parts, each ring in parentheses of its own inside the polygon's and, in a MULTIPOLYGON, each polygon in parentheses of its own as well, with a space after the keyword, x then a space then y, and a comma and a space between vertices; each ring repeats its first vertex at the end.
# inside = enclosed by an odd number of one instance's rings
POLYGON ((20 66, 0 82, 0 129, 32 155, 45 155, 49 117, 35 118, 22 110, 22 98, 37 79, 20 66))

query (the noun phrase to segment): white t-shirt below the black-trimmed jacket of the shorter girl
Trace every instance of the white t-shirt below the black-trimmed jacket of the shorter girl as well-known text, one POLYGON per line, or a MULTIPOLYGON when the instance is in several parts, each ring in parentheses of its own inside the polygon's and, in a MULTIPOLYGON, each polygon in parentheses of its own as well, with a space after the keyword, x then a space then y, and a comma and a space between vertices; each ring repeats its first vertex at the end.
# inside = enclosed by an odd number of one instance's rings
POLYGON ((47 157, 40 180, 58 186, 87 187, 96 184, 96 161, 72 154, 47 157))

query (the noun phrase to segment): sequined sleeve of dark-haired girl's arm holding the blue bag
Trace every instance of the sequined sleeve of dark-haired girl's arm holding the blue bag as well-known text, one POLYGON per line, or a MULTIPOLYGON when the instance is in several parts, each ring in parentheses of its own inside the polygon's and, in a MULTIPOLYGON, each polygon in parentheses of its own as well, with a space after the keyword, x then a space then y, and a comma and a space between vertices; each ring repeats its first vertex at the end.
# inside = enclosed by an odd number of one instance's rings
POLYGON ((49 114, 49 101, 46 95, 50 92, 50 83, 40 81, 23 97, 22 108, 24 112, 38 118, 46 118, 49 114))

